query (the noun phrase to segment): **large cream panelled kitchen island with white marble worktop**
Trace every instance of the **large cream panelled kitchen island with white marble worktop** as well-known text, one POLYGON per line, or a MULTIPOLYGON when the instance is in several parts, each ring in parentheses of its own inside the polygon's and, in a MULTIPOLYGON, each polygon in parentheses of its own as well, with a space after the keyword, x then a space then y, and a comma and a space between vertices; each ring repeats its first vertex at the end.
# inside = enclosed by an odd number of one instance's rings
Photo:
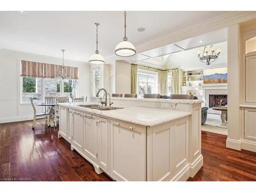
POLYGON ((90 107, 96 104, 59 103, 58 132, 96 173, 117 181, 186 181, 203 165, 200 101, 186 103, 184 111, 131 103, 90 107), (190 111, 199 108, 200 114, 190 111))

